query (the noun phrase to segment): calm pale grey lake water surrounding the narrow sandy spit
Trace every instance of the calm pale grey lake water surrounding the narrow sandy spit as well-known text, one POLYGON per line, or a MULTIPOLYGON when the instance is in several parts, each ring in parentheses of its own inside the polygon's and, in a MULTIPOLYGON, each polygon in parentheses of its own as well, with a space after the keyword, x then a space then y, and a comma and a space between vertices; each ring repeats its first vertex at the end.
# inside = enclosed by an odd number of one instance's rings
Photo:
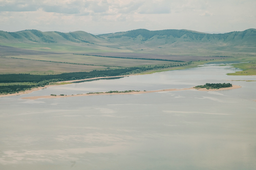
POLYGON ((256 76, 208 64, 0 98, 0 169, 256 169, 256 76), (23 96, 240 89, 22 100, 23 96))

